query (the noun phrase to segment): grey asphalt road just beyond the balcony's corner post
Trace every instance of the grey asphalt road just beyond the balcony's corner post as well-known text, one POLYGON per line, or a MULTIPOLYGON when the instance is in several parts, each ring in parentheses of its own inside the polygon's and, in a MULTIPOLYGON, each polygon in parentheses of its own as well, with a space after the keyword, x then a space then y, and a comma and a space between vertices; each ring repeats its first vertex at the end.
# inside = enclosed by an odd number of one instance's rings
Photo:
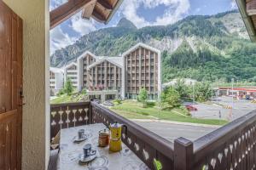
POLYGON ((172 124, 165 122, 137 122, 137 124, 172 142, 174 139, 179 137, 195 140, 217 128, 172 124))

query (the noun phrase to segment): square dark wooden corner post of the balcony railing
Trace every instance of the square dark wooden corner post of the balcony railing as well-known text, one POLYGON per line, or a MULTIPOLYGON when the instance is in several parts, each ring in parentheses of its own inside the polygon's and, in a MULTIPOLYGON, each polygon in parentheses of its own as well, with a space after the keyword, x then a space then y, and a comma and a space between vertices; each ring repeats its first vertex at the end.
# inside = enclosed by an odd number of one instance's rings
POLYGON ((192 170, 193 143, 189 139, 174 140, 174 170, 192 170))

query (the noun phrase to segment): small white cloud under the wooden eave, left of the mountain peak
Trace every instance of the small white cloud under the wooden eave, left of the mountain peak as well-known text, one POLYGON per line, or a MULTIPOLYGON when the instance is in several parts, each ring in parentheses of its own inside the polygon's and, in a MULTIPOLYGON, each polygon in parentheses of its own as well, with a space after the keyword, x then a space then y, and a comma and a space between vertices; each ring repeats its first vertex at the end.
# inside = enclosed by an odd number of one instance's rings
POLYGON ((78 13, 71 18, 70 27, 83 36, 84 34, 88 34, 90 31, 96 31, 96 21, 84 20, 81 17, 81 13, 78 13))

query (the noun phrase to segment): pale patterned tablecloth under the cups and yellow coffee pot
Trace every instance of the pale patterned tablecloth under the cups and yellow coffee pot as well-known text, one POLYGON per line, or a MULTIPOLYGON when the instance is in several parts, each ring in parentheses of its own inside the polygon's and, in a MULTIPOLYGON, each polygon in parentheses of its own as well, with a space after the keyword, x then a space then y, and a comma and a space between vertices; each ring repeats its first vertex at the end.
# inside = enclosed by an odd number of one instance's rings
POLYGON ((98 132, 106 126, 102 123, 72 127, 61 130, 60 152, 57 163, 58 170, 149 170, 128 147, 123 144, 123 150, 109 153, 108 147, 100 148, 98 145, 98 132), (89 139, 79 144, 73 143, 79 129, 84 129, 89 139), (97 157, 85 165, 79 164, 79 155, 83 153, 84 144, 92 144, 97 150, 97 157))

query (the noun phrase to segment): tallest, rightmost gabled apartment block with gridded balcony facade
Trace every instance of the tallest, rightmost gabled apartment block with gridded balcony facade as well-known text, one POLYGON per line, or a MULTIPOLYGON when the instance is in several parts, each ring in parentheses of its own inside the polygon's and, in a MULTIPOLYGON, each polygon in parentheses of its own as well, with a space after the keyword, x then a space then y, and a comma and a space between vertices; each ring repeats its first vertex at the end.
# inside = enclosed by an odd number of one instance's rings
POLYGON ((148 99, 160 94, 160 50, 138 43, 122 55, 124 59, 123 93, 128 99, 137 99, 141 88, 148 91, 148 99))

